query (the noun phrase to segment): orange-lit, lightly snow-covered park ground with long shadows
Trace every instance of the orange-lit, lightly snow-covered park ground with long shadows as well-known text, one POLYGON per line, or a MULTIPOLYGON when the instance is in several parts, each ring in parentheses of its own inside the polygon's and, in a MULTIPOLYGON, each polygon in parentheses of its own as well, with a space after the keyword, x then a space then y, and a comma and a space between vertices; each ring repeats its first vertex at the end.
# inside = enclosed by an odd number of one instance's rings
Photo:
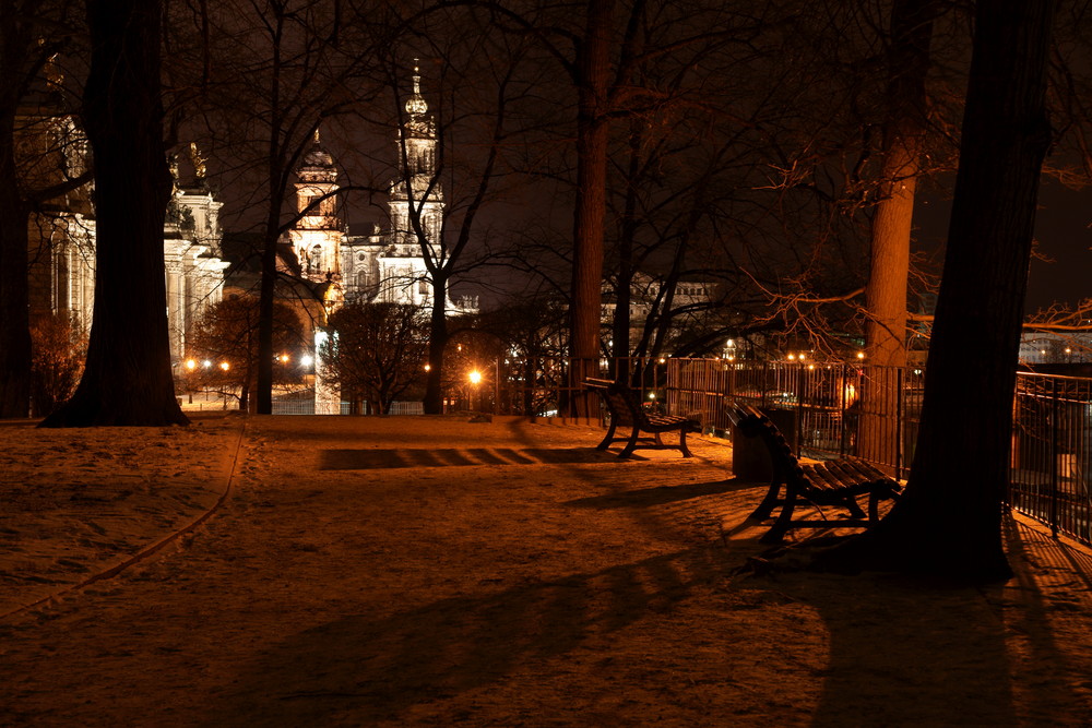
POLYGON ((1006 585, 758 575, 723 442, 601 437, 0 423, 0 725, 1088 725, 1087 550, 1012 521, 1006 585))

